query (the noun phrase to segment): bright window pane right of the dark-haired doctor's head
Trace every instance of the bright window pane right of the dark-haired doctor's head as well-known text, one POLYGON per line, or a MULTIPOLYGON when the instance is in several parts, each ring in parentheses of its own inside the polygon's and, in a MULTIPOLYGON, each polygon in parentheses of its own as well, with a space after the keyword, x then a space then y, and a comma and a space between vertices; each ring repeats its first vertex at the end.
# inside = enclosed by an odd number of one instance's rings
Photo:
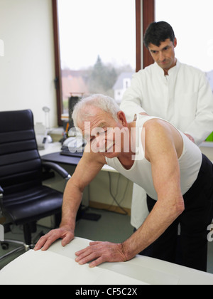
POLYGON ((213 70, 212 11, 212 0, 155 0, 155 20, 175 31, 176 57, 204 72, 213 70))

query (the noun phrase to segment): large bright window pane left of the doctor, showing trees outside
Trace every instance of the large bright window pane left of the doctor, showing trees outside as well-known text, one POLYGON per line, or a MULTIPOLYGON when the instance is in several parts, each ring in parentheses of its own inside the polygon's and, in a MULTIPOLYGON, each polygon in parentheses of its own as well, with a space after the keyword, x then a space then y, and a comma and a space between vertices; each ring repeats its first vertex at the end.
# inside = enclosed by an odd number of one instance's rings
POLYGON ((117 81, 136 71, 136 1, 53 0, 58 117, 68 114, 70 95, 104 93, 120 102, 117 81))

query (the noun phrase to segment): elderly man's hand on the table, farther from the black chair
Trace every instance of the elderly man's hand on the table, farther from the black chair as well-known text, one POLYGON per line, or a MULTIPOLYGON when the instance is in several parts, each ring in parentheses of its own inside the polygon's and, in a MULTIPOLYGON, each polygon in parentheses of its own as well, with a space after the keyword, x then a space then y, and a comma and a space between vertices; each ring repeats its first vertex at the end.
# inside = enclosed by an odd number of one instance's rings
POLYGON ((89 267, 95 267, 104 262, 124 262, 127 261, 122 243, 110 242, 90 242, 87 248, 75 253, 75 261, 80 265, 89 264, 89 267))

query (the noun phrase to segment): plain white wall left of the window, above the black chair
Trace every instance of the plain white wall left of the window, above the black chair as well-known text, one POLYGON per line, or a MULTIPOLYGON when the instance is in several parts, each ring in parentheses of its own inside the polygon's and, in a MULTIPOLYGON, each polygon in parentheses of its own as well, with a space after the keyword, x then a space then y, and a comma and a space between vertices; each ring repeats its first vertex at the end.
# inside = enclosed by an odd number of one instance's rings
POLYGON ((45 123, 50 107, 57 125, 51 0, 0 0, 0 110, 30 108, 45 123))

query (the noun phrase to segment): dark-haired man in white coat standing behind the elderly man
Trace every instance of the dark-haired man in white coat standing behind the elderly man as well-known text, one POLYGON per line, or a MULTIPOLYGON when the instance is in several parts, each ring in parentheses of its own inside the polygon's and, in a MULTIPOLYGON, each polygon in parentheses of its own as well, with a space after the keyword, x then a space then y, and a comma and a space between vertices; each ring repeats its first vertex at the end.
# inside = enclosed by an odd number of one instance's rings
MULTIPOLYGON (((175 58, 177 38, 170 24, 151 23, 143 41, 155 63, 133 75, 121 110, 129 121, 136 112, 162 117, 200 145, 213 130, 213 95, 207 78, 201 70, 175 58)), ((186 51, 193 51, 193 46, 186 51)), ((138 229, 146 216, 146 192, 134 184, 132 226, 138 229)))

